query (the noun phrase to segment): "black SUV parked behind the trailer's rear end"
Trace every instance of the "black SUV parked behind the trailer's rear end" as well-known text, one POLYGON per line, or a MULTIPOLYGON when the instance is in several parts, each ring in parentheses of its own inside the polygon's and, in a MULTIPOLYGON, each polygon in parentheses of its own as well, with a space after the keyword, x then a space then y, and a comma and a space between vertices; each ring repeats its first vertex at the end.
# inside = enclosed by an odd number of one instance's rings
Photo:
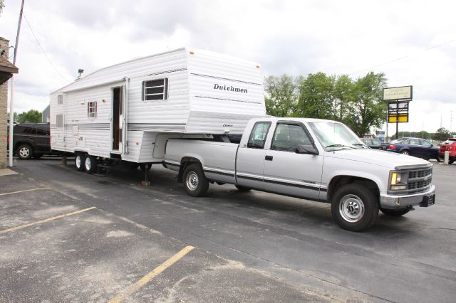
POLYGON ((43 154, 56 154, 51 151, 49 123, 23 122, 13 127, 14 154, 20 159, 39 159, 43 154))

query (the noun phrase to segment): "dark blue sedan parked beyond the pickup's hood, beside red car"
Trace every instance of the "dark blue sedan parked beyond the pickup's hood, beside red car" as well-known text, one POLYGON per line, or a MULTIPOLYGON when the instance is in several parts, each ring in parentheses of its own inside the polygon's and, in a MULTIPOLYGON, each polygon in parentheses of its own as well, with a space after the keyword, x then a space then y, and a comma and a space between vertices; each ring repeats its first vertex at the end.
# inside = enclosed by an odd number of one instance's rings
POLYGON ((416 156, 425 160, 438 160, 439 147, 435 147, 432 143, 420 138, 399 138, 390 143, 383 143, 381 149, 393 151, 400 154, 416 156))

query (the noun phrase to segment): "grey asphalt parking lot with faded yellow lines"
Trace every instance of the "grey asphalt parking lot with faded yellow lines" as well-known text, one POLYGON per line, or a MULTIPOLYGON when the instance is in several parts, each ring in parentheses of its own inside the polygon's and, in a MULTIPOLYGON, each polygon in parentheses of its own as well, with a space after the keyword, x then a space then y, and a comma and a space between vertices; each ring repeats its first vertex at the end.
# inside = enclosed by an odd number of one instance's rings
POLYGON ((435 163, 435 206, 364 233, 323 203, 72 165, 0 176, 0 302, 455 301, 456 164, 435 163))

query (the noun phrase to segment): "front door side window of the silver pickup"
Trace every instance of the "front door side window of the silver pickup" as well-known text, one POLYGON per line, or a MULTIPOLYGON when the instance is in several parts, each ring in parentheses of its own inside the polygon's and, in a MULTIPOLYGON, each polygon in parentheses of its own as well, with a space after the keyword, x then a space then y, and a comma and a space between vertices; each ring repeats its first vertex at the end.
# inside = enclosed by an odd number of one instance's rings
POLYGON ((277 124, 271 149, 278 151, 295 151, 298 145, 312 145, 304 129, 299 124, 277 124))

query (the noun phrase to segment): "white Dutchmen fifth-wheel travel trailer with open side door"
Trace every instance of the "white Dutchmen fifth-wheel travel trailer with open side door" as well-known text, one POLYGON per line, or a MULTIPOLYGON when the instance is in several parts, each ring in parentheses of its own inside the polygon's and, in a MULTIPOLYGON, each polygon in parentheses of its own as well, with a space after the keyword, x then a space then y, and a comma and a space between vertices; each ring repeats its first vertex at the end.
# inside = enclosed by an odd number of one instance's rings
POLYGON ((51 148, 100 159, 161 163, 170 137, 242 134, 266 115, 257 63, 179 48, 102 68, 51 93, 51 148))

